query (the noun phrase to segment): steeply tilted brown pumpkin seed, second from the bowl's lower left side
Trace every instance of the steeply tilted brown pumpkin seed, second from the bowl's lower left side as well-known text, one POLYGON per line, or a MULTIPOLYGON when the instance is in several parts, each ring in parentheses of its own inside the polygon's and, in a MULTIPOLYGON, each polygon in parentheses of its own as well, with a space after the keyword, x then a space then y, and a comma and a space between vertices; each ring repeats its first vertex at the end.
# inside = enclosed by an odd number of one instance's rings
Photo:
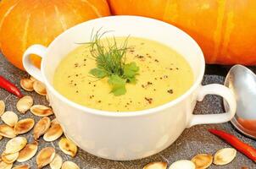
POLYGON ((37 140, 47 132, 47 129, 50 128, 51 119, 49 117, 42 117, 34 128, 34 139, 37 140))

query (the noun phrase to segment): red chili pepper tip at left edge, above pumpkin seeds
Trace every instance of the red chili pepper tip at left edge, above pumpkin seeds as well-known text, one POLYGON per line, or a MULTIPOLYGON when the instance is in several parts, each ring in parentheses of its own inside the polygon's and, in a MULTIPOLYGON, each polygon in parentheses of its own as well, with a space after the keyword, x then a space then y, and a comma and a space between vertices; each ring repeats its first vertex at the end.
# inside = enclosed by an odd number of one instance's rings
POLYGON ((0 76, 0 88, 8 90, 8 92, 17 95, 19 98, 23 96, 19 89, 13 83, 9 82, 8 79, 3 78, 3 76, 0 76))

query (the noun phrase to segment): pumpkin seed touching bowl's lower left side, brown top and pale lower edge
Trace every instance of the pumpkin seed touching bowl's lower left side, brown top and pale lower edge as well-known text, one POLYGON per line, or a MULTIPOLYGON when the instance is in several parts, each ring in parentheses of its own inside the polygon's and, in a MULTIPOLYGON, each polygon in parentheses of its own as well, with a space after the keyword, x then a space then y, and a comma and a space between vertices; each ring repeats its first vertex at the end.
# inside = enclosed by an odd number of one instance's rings
POLYGON ((58 123, 53 123, 51 128, 47 130, 47 133, 43 135, 43 139, 48 142, 55 141, 56 139, 60 138, 62 134, 63 130, 61 126, 58 123))

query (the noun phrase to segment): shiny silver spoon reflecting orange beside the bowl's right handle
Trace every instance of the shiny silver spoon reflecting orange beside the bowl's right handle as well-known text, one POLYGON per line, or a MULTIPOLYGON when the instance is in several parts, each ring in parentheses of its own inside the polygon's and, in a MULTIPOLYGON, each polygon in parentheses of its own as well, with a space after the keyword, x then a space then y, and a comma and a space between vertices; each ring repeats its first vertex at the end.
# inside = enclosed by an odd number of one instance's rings
MULTIPOLYGON (((256 139, 256 75, 237 64, 227 74, 225 86, 232 90, 237 100, 237 113, 231 123, 242 134, 256 139)), ((224 106, 228 110, 225 101, 224 106)))

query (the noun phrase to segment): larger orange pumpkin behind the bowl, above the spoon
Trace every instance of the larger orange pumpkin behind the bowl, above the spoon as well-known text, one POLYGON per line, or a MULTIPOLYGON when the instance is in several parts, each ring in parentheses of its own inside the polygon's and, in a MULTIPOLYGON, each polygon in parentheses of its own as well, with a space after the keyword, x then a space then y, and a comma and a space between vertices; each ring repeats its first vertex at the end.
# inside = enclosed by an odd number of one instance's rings
POLYGON ((255 0, 109 0, 109 6, 113 14, 161 19, 185 30, 207 63, 256 64, 255 0))

